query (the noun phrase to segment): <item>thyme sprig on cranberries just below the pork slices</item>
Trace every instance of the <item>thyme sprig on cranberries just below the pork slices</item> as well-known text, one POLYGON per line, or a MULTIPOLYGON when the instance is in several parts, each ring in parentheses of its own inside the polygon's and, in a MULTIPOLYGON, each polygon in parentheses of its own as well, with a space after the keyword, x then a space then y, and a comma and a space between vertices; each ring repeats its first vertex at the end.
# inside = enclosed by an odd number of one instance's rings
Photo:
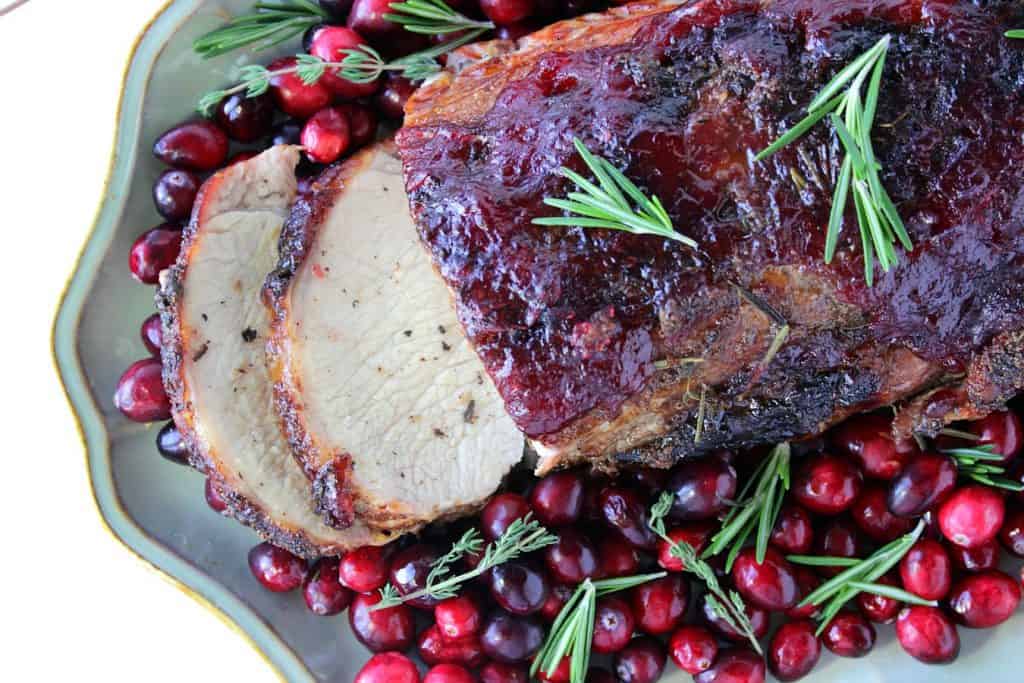
POLYGON ((482 541, 475 529, 470 529, 456 542, 452 550, 434 561, 430 567, 430 573, 427 574, 426 586, 407 595, 400 595, 394 586, 387 584, 380 590, 380 602, 372 609, 393 607, 424 596, 435 600, 454 598, 459 594, 459 589, 463 584, 479 577, 490 567, 505 564, 520 555, 547 548, 557 541, 558 537, 549 532, 537 520, 530 519, 530 515, 527 514, 512 522, 497 541, 487 544, 486 548, 483 549, 483 557, 474 568, 464 573, 451 575, 451 566, 454 562, 464 555, 477 553, 480 550, 482 541))

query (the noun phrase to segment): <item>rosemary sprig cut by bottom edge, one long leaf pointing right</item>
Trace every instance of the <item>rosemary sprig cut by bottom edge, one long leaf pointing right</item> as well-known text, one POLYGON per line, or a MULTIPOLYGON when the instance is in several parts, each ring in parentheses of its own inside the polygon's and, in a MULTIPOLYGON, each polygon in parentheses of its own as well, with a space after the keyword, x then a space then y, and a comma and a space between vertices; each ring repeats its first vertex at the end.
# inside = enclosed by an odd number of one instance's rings
POLYGON ((554 673, 562 659, 569 656, 569 683, 584 683, 590 665, 591 645, 594 640, 594 620, 597 598, 646 584, 667 575, 667 571, 637 577, 618 577, 591 581, 587 579, 577 587, 558 616, 555 617, 544 645, 534 657, 529 668, 530 678, 538 672, 554 673))

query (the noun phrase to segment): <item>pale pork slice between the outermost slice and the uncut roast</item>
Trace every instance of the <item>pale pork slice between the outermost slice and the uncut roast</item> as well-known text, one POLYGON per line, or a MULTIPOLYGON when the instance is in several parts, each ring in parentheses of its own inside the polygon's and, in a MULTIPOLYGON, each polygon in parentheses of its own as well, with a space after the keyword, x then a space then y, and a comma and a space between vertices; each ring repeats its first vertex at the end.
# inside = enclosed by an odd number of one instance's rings
POLYGON ((409 217, 393 144, 296 203, 266 286, 275 404, 329 523, 479 506, 523 453, 409 217))

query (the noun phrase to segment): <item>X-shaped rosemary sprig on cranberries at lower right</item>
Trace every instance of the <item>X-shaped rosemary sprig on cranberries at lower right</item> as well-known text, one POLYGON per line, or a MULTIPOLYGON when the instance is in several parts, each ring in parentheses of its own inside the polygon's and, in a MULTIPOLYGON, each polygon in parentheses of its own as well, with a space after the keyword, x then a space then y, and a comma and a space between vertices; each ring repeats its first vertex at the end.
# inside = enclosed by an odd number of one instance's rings
POLYGON ((850 562, 856 562, 848 569, 821 584, 821 586, 812 591, 800 602, 801 607, 807 605, 822 607, 821 614, 818 616, 821 625, 818 627, 817 634, 821 635, 821 632, 825 630, 833 617, 839 613, 843 605, 856 597, 858 593, 866 590, 866 587, 870 588, 869 592, 879 593, 880 595, 884 595, 880 593, 880 591, 884 590, 890 597, 896 595, 898 592, 900 597, 896 599, 905 602, 936 604, 934 602, 921 601, 921 598, 905 591, 899 591, 899 589, 895 589, 892 586, 882 586, 874 583, 903 559, 903 556, 918 542, 924 530, 925 521, 922 520, 918 522, 918 526, 912 531, 880 548, 873 555, 863 560, 852 560, 848 557, 807 558, 803 555, 788 555, 786 559, 791 562, 810 566, 847 566, 850 562), (829 561, 833 564, 825 564, 825 562, 829 561))

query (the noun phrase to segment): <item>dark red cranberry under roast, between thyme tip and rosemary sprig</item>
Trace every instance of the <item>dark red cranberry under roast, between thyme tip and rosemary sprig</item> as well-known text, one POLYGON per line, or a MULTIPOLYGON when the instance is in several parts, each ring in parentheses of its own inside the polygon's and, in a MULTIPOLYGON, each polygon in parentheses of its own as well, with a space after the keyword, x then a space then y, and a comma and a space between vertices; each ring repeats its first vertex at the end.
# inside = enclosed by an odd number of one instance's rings
POLYGON ((674 519, 711 519, 736 497, 736 470, 720 458, 685 461, 672 471, 668 490, 674 519))

